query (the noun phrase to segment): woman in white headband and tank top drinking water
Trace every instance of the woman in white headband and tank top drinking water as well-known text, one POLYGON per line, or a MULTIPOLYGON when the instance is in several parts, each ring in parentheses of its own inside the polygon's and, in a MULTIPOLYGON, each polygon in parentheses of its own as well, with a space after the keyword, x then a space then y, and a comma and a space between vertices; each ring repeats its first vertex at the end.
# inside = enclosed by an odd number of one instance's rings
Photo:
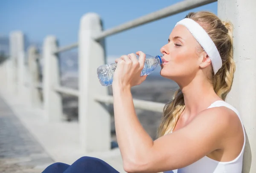
MULTIPOLYGON (((145 54, 116 60, 113 98, 116 136, 128 173, 241 173, 245 145, 239 112, 224 102, 233 82, 232 25, 210 12, 177 23, 163 54, 161 76, 180 86, 164 108, 155 141, 140 124, 131 87, 140 85, 145 54)), ((43 173, 117 173, 100 159, 55 163, 43 173)))

